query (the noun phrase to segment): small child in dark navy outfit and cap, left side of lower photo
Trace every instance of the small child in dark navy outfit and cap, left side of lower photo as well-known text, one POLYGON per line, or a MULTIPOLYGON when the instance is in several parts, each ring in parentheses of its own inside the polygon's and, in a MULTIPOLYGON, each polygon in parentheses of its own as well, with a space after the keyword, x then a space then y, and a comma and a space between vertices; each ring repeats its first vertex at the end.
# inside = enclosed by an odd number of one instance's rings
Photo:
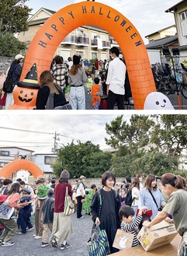
POLYGON ((32 198, 30 196, 30 193, 31 191, 29 191, 28 189, 23 189, 22 196, 19 199, 19 205, 21 205, 19 208, 17 219, 17 224, 21 228, 21 231, 18 233, 19 235, 25 234, 27 227, 27 231, 32 231, 34 228, 29 219, 32 211, 32 198))

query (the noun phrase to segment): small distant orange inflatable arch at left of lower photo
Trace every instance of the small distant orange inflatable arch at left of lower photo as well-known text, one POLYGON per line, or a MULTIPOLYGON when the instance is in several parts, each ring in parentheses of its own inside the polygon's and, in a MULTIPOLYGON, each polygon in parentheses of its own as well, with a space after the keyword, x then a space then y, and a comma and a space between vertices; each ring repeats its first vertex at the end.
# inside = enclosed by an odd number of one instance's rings
POLYGON ((0 170, 0 177, 9 178, 17 170, 28 170, 29 173, 33 174, 33 177, 37 179, 38 176, 43 175, 43 171, 29 160, 14 160, 7 163, 5 167, 0 170))

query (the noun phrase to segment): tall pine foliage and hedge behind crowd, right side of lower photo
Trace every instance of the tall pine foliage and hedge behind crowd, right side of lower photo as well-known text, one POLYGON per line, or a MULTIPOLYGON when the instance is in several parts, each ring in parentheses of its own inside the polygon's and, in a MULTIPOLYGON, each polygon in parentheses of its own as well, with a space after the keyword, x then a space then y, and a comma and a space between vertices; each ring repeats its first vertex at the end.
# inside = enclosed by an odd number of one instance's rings
POLYGON ((129 122, 119 116, 106 124, 106 132, 107 144, 118 149, 111 167, 116 176, 178 172, 187 145, 185 115, 133 115, 129 122))

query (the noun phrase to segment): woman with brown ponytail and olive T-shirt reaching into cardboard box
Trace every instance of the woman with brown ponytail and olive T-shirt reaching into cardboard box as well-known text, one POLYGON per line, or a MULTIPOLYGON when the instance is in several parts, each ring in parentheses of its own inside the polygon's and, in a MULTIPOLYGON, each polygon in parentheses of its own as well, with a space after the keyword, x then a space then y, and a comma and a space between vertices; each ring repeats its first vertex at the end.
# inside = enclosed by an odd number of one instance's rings
POLYGON ((157 178, 161 180, 162 191, 169 197, 168 202, 151 223, 146 223, 144 226, 149 228, 164 219, 167 220, 166 218, 171 215, 175 229, 182 237, 178 251, 181 251, 180 255, 185 256, 187 255, 187 183, 182 176, 171 173, 157 178))

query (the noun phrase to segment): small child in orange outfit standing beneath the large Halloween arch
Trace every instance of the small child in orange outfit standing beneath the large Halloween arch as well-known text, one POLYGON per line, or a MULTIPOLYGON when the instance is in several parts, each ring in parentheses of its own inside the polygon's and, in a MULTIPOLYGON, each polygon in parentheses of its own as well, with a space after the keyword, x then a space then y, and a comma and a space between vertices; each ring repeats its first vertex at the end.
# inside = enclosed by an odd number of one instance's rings
POLYGON ((95 84, 92 85, 91 95, 92 95, 92 107, 93 109, 99 109, 99 103, 101 101, 100 96, 102 96, 102 88, 99 85, 99 77, 95 77, 94 79, 95 84), (95 108, 97 107, 97 108, 95 108))

